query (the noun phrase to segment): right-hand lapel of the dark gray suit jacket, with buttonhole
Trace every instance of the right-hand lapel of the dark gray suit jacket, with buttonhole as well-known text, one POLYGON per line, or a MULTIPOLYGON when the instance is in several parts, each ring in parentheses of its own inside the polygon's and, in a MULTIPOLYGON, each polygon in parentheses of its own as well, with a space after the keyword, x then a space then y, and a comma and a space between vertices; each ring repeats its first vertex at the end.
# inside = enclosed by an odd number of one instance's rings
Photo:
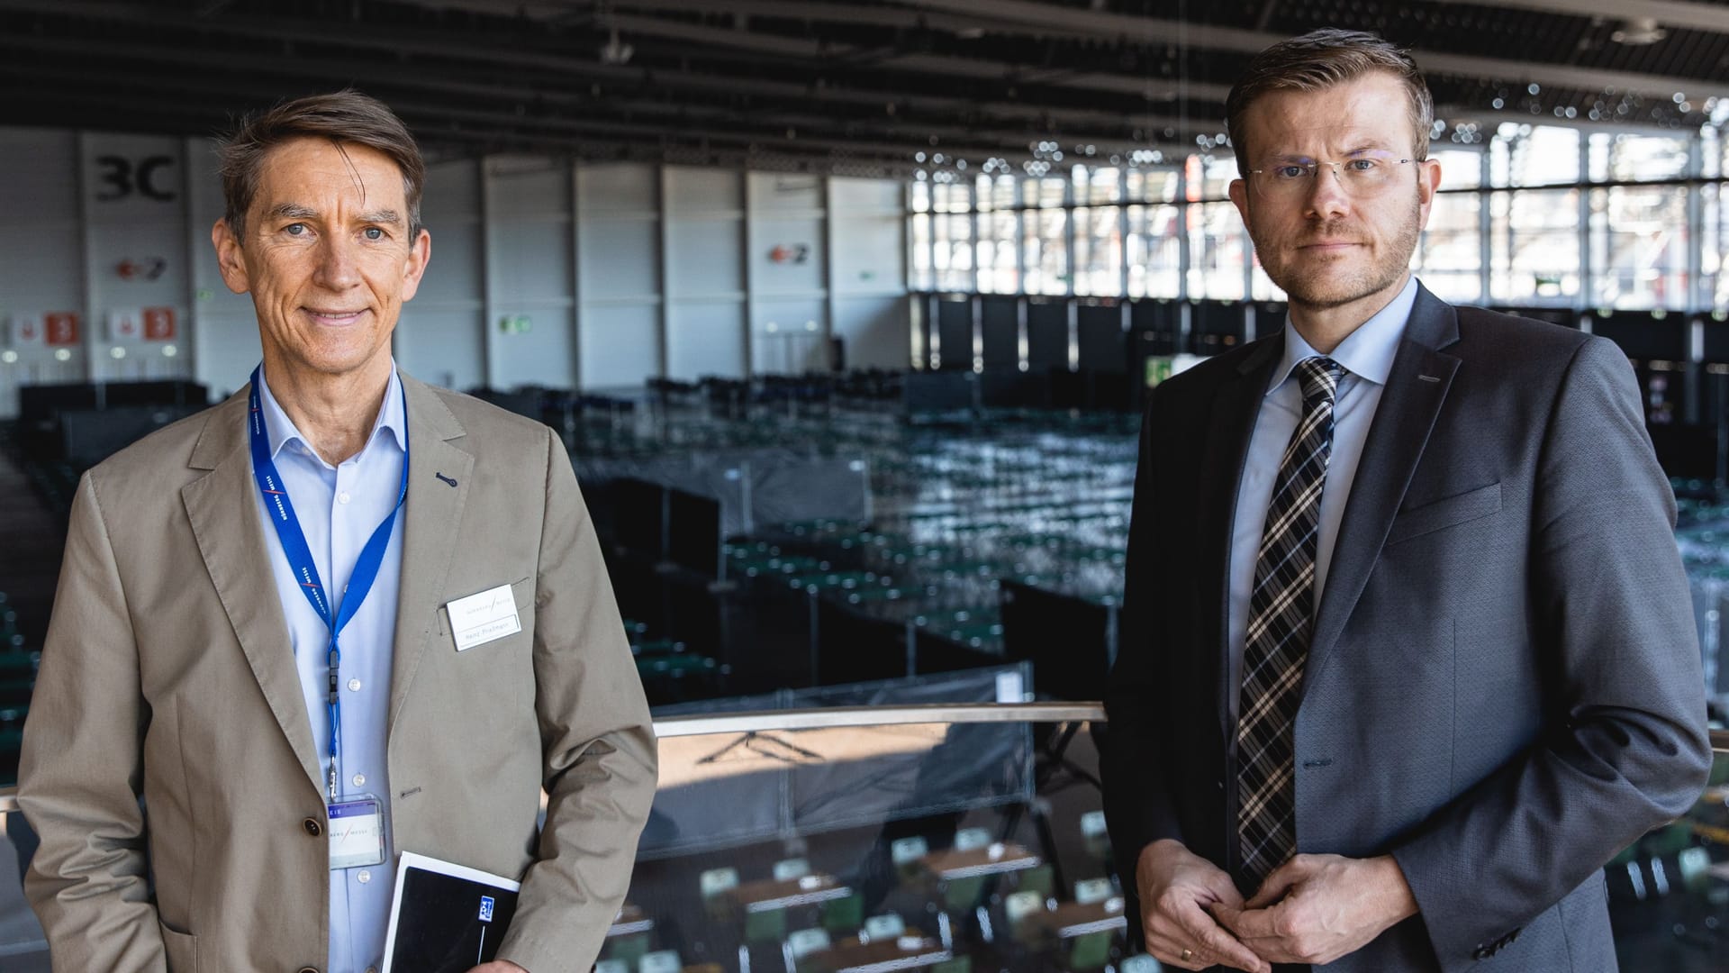
POLYGON ((1452 306, 1418 287, 1333 544, 1326 590, 1321 592, 1309 639, 1304 693, 1312 682, 1309 677, 1326 665, 1381 554, 1387 530, 1404 502, 1411 474, 1459 369, 1459 358, 1439 350, 1458 339, 1459 319, 1452 306))

